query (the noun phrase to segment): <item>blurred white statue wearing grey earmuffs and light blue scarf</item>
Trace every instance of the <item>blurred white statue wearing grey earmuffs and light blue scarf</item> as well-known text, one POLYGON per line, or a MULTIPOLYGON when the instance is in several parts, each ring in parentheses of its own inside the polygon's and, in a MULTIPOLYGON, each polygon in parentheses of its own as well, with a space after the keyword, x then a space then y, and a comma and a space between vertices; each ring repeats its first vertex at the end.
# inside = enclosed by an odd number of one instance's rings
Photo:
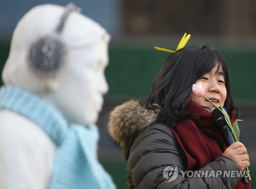
POLYGON ((0 188, 115 188, 93 125, 110 36, 77 10, 36 6, 15 28, 0 89, 0 188))

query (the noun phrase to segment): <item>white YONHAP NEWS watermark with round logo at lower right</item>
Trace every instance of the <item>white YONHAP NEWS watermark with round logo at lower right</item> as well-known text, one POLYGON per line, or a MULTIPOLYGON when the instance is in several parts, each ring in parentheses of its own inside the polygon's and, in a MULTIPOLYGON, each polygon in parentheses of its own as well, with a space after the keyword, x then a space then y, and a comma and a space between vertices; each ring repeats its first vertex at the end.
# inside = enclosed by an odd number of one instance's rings
POLYGON ((178 172, 177 166, 167 166, 163 170, 163 177, 165 182, 172 182, 178 178, 178 175, 181 175, 184 178, 192 178, 192 177, 249 177, 247 171, 207 171, 207 170, 196 170, 196 171, 183 171, 178 172))

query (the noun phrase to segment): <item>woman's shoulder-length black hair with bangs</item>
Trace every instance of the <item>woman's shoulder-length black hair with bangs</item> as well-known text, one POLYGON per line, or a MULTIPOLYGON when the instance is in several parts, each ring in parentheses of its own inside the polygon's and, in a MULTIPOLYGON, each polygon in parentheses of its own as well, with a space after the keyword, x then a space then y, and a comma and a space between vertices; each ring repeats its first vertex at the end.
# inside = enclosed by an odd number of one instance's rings
POLYGON ((153 90, 143 102, 143 107, 152 109, 154 104, 158 104, 162 111, 157 121, 167 122, 170 127, 174 127, 179 120, 189 116, 184 109, 190 100, 192 85, 216 64, 217 71, 222 71, 225 77, 227 97, 224 107, 228 112, 237 112, 230 91, 227 62, 219 51, 207 45, 187 46, 171 54, 158 73, 153 90))

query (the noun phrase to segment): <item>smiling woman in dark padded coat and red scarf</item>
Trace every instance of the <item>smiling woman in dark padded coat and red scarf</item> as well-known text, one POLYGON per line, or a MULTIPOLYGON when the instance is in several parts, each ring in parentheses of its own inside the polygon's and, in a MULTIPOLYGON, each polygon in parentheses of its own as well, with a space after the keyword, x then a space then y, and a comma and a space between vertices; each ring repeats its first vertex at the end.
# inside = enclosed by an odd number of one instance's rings
POLYGON ((207 45, 175 51, 142 105, 129 101, 110 113, 109 133, 123 147, 128 188, 250 188, 241 176, 223 174, 240 173, 249 156, 240 142, 226 147, 212 118, 215 106, 192 92, 198 82, 234 122, 227 62, 207 45))

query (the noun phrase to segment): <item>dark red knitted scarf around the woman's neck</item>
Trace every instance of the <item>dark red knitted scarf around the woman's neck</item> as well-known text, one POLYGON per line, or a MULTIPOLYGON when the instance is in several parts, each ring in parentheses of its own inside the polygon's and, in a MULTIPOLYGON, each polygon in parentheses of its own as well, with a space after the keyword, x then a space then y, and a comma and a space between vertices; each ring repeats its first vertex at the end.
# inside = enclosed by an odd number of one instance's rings
MULTIPOLYGON (((175 128, 169 128, 186 155, 187 171, 194 171, 221 156, 226 145, 219 129, 214 124, 212 113, 193 101, 187 104, 186 113, 199 116, 200 119, 181 120, 175 128)), ((231 116, 230 120, 233 123, 236 117, 231 116)), ((239 181, 235 188, 251 188, 251 185, 250 182, 243 184, 239 181)))

